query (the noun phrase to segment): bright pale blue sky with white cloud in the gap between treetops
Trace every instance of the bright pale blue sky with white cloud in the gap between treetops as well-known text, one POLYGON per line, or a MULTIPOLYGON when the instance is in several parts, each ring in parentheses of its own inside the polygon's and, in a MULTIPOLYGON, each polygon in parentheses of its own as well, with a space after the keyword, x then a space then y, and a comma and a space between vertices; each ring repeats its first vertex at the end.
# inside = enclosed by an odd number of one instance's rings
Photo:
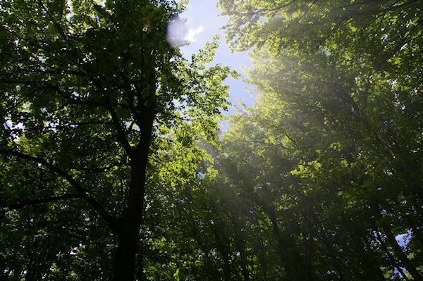
MULTIPOLYGON (((244 53, 231 53, 226 44, 225 35, 221 26, 226 23, 227 17, 219 17, 220 9, 216 8, 216 0, 191 0, 187 11, 180 15, 180 18, 186 18, 187 39, 191 42, 188 46, 183 46, 180 51, 185 58, 190 59, 192 54, 197 54, 198 50, 204 47, 206 42, 212 40, 214 35, 220 36, 220 46, 216 51, 216 57, 213 63, 221 63, 235 69, 241 75, 244 75, 241 65, 250 66, 250 59, 244 53)), ((253 96, 247 91, 252 87, 241 80, 229 78, 226 84, 229 89, 230 101, 240 107, 238 100, 243 101, 247 106, 252 106, 253 96)), ((235 113, 235 108, 230 107, 225 115, 235 113)))

